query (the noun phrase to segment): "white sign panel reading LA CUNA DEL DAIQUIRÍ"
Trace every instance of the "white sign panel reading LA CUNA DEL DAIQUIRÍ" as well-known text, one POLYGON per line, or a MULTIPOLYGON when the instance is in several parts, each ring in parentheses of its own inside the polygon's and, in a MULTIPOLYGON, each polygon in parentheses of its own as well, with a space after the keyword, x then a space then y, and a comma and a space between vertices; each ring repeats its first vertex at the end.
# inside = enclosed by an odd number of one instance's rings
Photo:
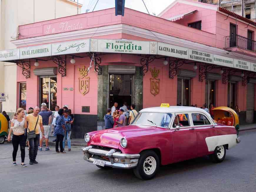
POLYGON ((185 47, 179 47, 167 43, 157 43, 157 54, 177 57, 182 59, 188 59, 188 49, 185 47))

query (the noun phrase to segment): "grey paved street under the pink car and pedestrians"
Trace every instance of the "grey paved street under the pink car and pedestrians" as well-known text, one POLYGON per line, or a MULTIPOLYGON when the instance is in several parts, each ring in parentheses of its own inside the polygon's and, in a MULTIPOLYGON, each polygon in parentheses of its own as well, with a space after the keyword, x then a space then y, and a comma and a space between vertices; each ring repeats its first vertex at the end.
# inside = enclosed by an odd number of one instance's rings
MULTIPOLYGON (((162 166, 156 178, 142 181, 132 170, 100 170, 85 162, 81 147, 56 154, 38 151, 37 165, 12 166, 12 145, 0 146, 0 191, 256 191, 256 130, 240 132, 241 143, 220 164, 207 157, 162 166), (3 174, 4 173, 4 174, 3 174)), ((28 163, 26 148, 25 163, 28 163)))

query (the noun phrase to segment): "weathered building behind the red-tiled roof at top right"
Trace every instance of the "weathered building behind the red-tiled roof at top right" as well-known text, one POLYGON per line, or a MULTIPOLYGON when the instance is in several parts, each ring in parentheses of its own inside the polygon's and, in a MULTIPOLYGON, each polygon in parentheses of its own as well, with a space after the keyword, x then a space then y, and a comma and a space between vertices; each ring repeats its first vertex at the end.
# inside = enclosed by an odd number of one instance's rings
MULTIPOLYGON (((218 5, 219 0, 199 0, 202 3, 208 3, 213 5, 218 5)), ((247 19, 251 19, 252 21, 256 21, 256 5, 255 0, 244 0, 244 15, 242 15, 242 1, 231 0, 221 1, 221 7, 225 8, 229 11, 232 11, 238 15, 244 16, 247 19)))

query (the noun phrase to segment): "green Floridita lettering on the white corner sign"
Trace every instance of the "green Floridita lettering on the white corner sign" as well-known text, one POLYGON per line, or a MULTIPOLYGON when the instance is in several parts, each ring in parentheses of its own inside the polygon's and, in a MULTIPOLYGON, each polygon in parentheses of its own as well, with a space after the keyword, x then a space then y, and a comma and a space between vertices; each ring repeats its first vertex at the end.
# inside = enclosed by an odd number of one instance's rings
POLYGON ((115 52, 128 52, 128 53, 132 53, 133 50, 142 50, 141 46, 133 44, 132 41, 116 41, 116 43, 117 44, 106 43, 106 49, 114 49, 115 52))

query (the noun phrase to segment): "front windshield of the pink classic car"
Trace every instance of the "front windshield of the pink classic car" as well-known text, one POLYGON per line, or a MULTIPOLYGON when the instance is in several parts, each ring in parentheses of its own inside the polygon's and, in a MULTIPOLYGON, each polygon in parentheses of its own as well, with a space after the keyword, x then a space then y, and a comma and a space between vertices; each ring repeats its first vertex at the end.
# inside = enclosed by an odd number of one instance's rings
POLYGON ((142 124, 158 127, 168 127, 172 118, 172 113, 139 113, 132 124, 142 124))

